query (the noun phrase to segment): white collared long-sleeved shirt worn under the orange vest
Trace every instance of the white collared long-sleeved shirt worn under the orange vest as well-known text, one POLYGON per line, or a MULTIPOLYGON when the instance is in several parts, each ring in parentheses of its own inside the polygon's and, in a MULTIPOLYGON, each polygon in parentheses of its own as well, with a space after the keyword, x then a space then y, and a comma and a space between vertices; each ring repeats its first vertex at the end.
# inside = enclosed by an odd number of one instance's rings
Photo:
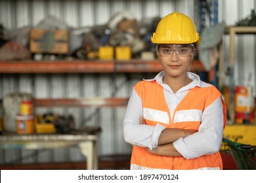
MULTIPOLYGON (((202 82, 200 77, 194 73, 188 72, 188 77, 192 80, 188 85, 182 87, 174 93, 167 84, 163 84, 163 76, 165 71, 162 71, 154 79, 146 80, 148 82, 156 80, 163 87, 165 101, 169 107, 171 116, 179 103, 182 101, 186 93, 192 88, 209 87, 210 84, 202 82)), ((153 89, 152 89, 153 90, 153 89)), ((154 149, 158 146, 158 139, 161 131, 165 127, 161 124, 156 126, 140 125, 139 118, 143 116, 142 100, 133 88, 127 111, 123 121, 123 134, 126 142, 134 146, 148 147, 154 149)), ((223 134, 223 107, 221 97, 214 101, 209 107, 205 108, 202 113, 202 124, 198 133, 194 133, 186 138, 180 138, 173 142, 177 151, 186 159, 198 158, 205 154, 215 153, 221 146, 223 134), (197 144, 195 146, 195 143, 197 144), (200 145, 198 145, 200 144, 200 145)))

